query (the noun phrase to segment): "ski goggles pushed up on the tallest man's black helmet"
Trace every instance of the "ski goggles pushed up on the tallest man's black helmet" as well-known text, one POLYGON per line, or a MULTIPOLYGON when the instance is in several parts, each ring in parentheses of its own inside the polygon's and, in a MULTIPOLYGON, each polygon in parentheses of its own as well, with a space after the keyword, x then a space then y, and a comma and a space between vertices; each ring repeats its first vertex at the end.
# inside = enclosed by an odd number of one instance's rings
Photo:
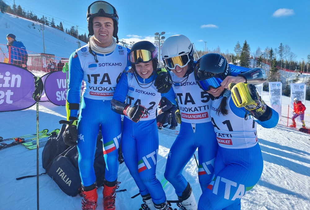
POLYGON ((102 12, 106 17, 112 18, 114 16, 117 16, 117 12, 111 4, 104 1, 96 1, 88 7, 87 18, 91 15, 95 15, 102 12))

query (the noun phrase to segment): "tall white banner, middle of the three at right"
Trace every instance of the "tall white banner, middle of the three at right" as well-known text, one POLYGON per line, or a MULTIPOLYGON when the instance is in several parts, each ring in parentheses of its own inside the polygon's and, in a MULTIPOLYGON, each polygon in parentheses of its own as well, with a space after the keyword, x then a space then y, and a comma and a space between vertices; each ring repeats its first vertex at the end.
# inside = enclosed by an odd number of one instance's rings
POLYGON ((282 83, 269 82, 269 100, 270 106, 279 114, 281 119, 281 104, 282 104, 282 83))

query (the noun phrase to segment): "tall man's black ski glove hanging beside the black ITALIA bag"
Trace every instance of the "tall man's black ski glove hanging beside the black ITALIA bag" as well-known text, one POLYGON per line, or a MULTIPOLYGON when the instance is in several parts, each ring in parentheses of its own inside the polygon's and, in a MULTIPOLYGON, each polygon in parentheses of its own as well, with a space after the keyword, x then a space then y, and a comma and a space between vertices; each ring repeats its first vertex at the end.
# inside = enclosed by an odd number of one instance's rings
MULTIPOLYGON (((73 117, 71 117, 73 118, 73 117)), ((60 124, 67 124, 62 137, 64 138, 64 143, 68 146, 75 146, 78 144, 78 118, 74 117, 70 121, 60 120, 60 124)))

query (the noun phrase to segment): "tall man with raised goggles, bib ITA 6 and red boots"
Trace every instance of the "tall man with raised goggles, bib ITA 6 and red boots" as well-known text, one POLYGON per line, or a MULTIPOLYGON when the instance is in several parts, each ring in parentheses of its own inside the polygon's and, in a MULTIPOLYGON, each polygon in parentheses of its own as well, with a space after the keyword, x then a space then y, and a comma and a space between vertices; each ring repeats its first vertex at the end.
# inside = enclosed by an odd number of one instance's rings
POLYGON ((82 209, 95 209, 98 195, 93 165, 97 135, 101 129, 106 163, 103 206, 105 210, 114 210, 115 190, 120 183, 117 182, 117 172, 121 116, 111 110, 110 102, 122 72, 131 66, 127 56, 129 49, 117 45, 118 15, 111 4, 93 2, 87 9, 86 17, 88 44, 69 58, 64 142, 78 147, 82 209), (86 86, 80 107, 82 81, 86 86))

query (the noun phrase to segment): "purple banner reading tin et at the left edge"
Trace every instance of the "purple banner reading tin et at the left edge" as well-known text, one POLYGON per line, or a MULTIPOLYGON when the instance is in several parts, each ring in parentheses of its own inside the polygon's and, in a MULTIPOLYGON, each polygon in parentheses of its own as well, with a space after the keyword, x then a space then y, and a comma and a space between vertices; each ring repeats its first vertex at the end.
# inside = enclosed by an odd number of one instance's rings
POLYGON ((18 111, 32 107, 33 73, 18 66, 0 63, 0 112, 18 111))

